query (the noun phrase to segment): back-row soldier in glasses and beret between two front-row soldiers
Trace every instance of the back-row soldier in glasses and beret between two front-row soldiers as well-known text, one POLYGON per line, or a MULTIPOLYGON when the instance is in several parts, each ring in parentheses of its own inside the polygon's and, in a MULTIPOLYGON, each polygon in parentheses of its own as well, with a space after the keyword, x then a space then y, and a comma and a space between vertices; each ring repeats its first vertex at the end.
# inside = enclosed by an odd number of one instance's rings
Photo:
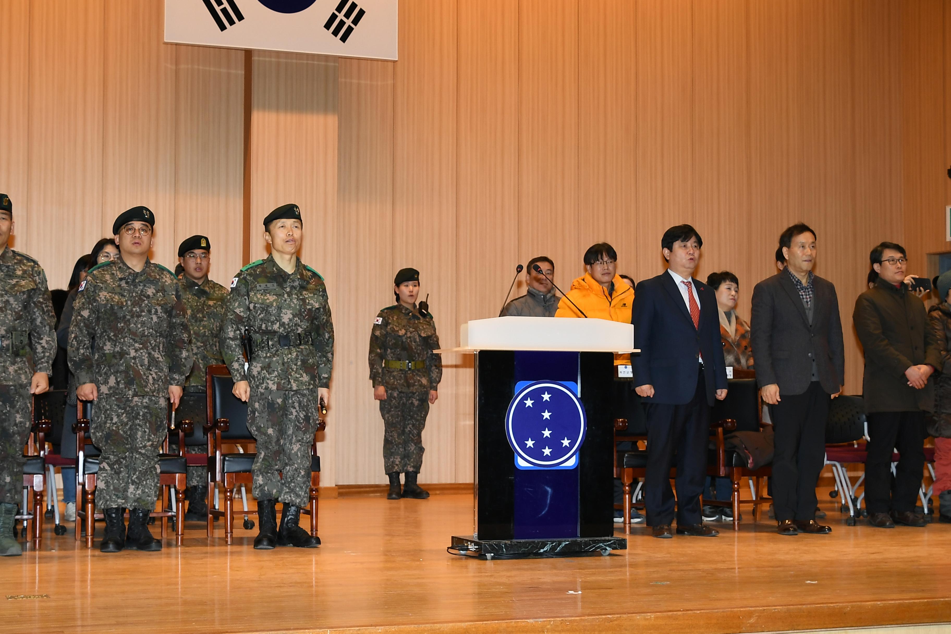
MULTIPOLYGON (((204 392, 204 369, 209 365, 224 362, 218 339, 224 323, 224 305, 228 290, 218 282, 208 279, 211 265, 211 240, 207 236, 192 236, 179 245, 179 265, 184 274, 179 279, 182 287, 182 301, 191 333, 191 353, 194 362, 191 372, 184 382, 182 405, 176 416, 178 420, 190 419, 195 429, 204 425, 207 417, 207 403, 204 392)), ((195 433, 195 432, 192 432, 195 433)), ((189 453, 204 453, 206 447, 190 446, 189 453)), ((206 466, 188 466, 188 489, 185 501, 188 502, 186 520, 204 520, 208 513, 205 498, 208 495, 208 468, 206 466)))

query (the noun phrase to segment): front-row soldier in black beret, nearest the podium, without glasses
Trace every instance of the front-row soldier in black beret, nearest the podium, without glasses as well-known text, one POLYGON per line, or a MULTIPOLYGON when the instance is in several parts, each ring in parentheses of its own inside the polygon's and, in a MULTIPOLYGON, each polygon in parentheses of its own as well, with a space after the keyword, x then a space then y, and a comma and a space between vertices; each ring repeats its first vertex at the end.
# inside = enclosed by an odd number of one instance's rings
POLYGON ((320 539, 299 526, 310 500, 310 446, 322 399, 330 402, 334 324, 327 289, 297 257, 303 222, 296 204, 281 205, 264 219, 271 255, 245 266, 231 281, 221 348, 235 381, 234 394, 248 402, 247 426, 257 440, 254 494, 259 534, 254 548, 314 548, 320 539), (244 370, 242 336, 251 358, 244 370), (277 502, 283 503, 277 527, 277 502))

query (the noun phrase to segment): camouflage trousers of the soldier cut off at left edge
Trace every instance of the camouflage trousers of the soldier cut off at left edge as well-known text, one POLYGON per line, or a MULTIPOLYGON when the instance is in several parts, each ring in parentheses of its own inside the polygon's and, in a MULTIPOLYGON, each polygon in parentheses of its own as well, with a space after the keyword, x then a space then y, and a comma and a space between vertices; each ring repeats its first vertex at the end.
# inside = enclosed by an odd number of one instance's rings
POLYGON ((23 449, 32 427, 29 386, 0 385, 0 503, 23 503, 23 449))

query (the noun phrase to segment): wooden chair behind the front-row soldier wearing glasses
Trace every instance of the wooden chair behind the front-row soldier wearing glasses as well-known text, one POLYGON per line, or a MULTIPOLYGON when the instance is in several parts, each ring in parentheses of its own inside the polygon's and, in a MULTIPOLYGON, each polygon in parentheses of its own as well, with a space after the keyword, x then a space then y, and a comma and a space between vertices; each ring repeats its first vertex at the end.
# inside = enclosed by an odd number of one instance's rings
MULTIPOLYGON (((92 455, 87 453, 87 447, 92 447, 89 439, 89 420, 92 415, 92 403, 79 401, 76 408, 76 423, 73 431, 76 432, 76 541, 82 536, 82 529, 86 528, 86 548, 92 548, 92 538, 95 533, 96 520, 105 519, 102 512, 96 511, 96 475, 99 473, 99 452, 92 455)), ((182 546, 184 539, 184 488, 185 488, 185 458, 184 434, 194 429, 190 420, 179 421, 172 425, 171 416, 168 417, 169 432, 178 433, 178 453, 168 453, 168 436, 165 436, 162 453, 159 454, 159 484, 162 490, 161 510, 154 507, 149 517, 158 517, 162 520, 162 538, 168 533, 168 518, 175 518, 175 545, 182 546), (174 511, 165 510, 169 502, 169 490, 175 490, 176 508, 174 511)), ((65 485, 64 485, 65 486, 65 485)), ((126 511, 126 516, 128 515, 126 511)))

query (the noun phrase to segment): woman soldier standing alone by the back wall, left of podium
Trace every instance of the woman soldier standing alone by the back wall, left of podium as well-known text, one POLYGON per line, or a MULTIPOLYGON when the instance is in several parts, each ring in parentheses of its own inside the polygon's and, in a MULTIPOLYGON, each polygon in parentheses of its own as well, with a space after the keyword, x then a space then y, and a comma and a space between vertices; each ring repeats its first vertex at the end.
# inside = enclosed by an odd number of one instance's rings
POLYGON ((419 272, 401 269, 393 280, 397 304, 379 311, 370 334, 370 380, 383 416, 383 467, 390 478, 386 497, 425 499, 417 474, 422 467, 422 430, 438 398, 442 360, 436 323, 419 296, 419 272), (399 473, 405 486, 399 489, 399 473))

